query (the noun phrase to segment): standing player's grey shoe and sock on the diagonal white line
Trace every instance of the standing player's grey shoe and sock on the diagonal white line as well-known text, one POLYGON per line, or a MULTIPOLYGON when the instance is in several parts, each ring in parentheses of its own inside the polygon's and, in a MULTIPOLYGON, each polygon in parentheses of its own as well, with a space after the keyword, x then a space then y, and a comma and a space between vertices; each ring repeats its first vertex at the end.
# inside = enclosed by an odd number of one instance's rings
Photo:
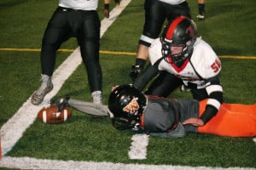
POLYGON ((41 81, 42 83, 40 88, 32 94, 31 103, 33 105, 41 104, 44 100, 44 96, 53 89, 53 84, 49 76, 42 75, 41 81))

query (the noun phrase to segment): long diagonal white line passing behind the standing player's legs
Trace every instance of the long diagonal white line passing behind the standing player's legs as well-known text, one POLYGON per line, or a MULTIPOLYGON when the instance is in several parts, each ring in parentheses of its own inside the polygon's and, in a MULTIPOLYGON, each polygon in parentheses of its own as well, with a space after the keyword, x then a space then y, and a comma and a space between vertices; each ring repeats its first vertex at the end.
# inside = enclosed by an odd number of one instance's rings
MULTIPOLYGON (((113 21, 117 18, 118 14, 131 2, 131 0, 123 0, 119 7, 113 8, 110 15, 113 17, 109 19, 102 20, 101 27, 101 37, 108 30, 113 21)), ((3 124, 1 127, 0 135, 2 138, 2 154, 3 156, 12 150, 16 142, 22 137, 22 134, 26 131, 27 127, 32 125, 32 122, 37 117, 38 111, 47 105, 49 100, 58 93, 61 89, 62 84, 67 80, 67 78, 77 69, 81 64, 82 59, 80 57, 80 50, 76 48, 72 54, 55 70, 52 76, 52 82, 54 84, 54 89, 45 96, 44 102, 40 105, 32 105, 30 99, 20 107, 20 109, 15 113, 8 122, 3 124)))

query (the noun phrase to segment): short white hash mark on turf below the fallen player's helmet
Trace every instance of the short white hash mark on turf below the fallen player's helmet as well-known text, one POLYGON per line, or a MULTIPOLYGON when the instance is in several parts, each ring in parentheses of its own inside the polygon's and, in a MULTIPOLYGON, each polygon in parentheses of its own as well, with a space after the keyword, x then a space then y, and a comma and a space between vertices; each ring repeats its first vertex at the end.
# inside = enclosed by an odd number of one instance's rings
POLYGON ((128 153, 132 160, 143 160, 147 158, 147 146, 149 136, 147 134, 135 134, 131 137, 131 147, 128 153))

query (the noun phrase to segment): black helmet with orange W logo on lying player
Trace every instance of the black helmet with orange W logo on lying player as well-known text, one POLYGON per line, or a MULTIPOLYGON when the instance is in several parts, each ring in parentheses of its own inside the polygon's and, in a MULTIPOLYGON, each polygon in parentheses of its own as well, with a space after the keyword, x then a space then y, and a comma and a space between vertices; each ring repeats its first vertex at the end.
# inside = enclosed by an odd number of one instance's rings
POLYGON ((147 97, 132 84, 115 88, 108 97, 108 115, 113 127, 119 130, 135 127, 146 105, 147 97))

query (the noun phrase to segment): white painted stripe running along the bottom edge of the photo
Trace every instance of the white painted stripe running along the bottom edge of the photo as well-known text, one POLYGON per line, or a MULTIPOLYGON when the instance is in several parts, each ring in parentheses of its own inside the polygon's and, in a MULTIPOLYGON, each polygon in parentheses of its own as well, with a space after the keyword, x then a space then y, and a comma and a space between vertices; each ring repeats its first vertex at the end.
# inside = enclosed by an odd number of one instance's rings
POLYGON ((0 167, 19 169, 76 169, 76 170, 255 170, 249 167, 188 167, 172 165, 125 164, 96 161, 57 161, 43 160, 30 157, 5 156, 0 161, 0 167))

